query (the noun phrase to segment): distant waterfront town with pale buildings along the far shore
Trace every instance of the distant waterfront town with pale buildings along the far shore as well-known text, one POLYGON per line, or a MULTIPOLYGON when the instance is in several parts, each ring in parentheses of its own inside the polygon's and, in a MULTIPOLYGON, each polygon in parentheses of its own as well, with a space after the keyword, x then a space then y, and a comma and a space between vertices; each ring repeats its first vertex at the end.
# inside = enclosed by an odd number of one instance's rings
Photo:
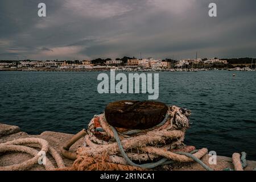
POLYGON ((0 71, 207 71, 227 69, 229 71, 255 71, 256 59, 165 59, 152 57, 137 59, 94 60, 0 60, 0 71))

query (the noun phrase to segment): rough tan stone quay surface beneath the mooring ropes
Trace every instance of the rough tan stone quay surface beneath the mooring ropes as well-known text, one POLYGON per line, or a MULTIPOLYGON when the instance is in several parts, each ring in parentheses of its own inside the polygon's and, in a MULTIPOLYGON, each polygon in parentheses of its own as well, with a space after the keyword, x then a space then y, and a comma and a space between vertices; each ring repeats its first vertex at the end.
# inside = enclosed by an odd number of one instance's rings
MULTIPOLYGON (((20 138, 42 138, 47 140, 49 145, 55 148, 55 150, 59 152, 59 154, 61 154, 60 147, 63 146, 63 144, 66 143, 72 137, 73 137, 72 134, 58 133, 53 131, 44 131, 40 135, 29 135, 26 132, 21 131, 18 126, 5 125, 0 123, 0 143, 5 143, 8 141, 20 139, 20 138)), ((81 138, 71 147, 71 151, 75 152, 79 146, 82 146, 82 143, 83 143, 83 138, 81 138)), ((232 156, 232 154, 230 154, 230 156, 232 156)), ((31 158, 32 158, 31 155, 24 154, 21 152, 6 152, 5 154, 0 153, 0 166, 3 167, 3 166, 10 166, 12 164, 19 164, 31 158)), ((55 167, 57 167, 55 160, 53 160, 51 156, 48 156, 48 158, 52 161, 55 167)), ((73 160, 66 159, 64 158, 64 156, 62 156, 62 158, 64 160, 66 167, 72 166, 73 160)), ((232 158, 229 158, 226 156, 217 156, 216 165, 214 164, 210 165, 208 163, 208 159, 209 159, 209 155, 205 155, 201 160, 205 164, 207 164, 210 168, 216 171, 222 171, 222 169, 225 169, 225 168, 234 169, 232 164, 232 158)), ((245 171, 250 171, 256 168, 256 161, 247 160, 247 164, 248 164, 247 167, 244 169, 245 171)), ((167 170, 167 171, 168 170, 170 171, 205 171, 205 169, 196 162, 174 163, 168 166, 167 165, 163 166, 160 169, 167 170)), ((45 168, 42 165, 35 164, 32 168, 30 168, 30 170, 44 171, 45 168)))

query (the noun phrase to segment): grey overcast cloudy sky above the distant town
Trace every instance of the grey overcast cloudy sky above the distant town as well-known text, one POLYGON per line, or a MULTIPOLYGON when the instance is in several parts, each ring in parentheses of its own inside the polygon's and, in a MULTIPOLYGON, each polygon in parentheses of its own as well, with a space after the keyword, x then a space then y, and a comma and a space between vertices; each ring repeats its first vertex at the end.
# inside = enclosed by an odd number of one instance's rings
POLYGON ((255 0, 1 0, 1 59, 256 57, 255 0), (46 3, 47 17, 38 17, 46 3), (217 4, 210 18, 208 5, 217 4))

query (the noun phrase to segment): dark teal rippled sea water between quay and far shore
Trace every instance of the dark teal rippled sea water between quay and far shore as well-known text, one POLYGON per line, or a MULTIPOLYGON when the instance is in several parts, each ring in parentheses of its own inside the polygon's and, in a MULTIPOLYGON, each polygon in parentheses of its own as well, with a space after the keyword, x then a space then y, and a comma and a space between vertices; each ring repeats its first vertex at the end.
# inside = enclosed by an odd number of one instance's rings
MULTIPOLYGON (((29 134, 75 134, 109 102, 148 94, 98 94, 99 72, 0 72, 0 123, 29 134)), ((256 160, 256 72, 159 73, 159 101, 192 110, 185 143, 256 160)))

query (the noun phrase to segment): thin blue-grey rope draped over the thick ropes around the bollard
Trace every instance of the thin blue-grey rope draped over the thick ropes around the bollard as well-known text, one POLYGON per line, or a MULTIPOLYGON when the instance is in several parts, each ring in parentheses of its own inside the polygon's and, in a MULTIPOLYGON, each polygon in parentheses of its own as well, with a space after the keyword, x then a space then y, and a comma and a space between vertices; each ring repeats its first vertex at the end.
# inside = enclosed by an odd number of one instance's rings
MULTIPOLYGON (((123 149, 121 140, 118 136, 117 130, 115 130, 115 128, 113 126, 110 126, 113 133, 114 133, 114 138, 117 141, 118 144, 118 148, 121 152, 121 155, 123 156, 123 158, 125 158, 126 162, 130 165, 130 166, 135 166, 135 167, 141 167, 141 168, 147 168, 147 169, 151 169, 151 168, 155 168, 158 166, 162 166, 163 164, 168 164, 168 163, 173 163, 173 161, 168 161, 167 158, 163 158, 160 159, 158 162, 154 162, 154 163, 147 163, 147 164, 135 164, 133 161, 131 161, 129 159, 129 157, 127 156, 125 150, 123 149)), ((175 152, 176 154, 180 154, 180 155, 185 155, 188 156, 189 158, 192 158, 193 160, 195 160, 197 163, 199 163, 201 166, 203 166, 205 169, 207 169, 208 171, 213 171, 213 169, 209 168, 206 164, 204 164, 203 162, 201 162, 200 159, 197 159, 195 156, 193 156, 192 154, 189 154, 187 152, 175 152)))

